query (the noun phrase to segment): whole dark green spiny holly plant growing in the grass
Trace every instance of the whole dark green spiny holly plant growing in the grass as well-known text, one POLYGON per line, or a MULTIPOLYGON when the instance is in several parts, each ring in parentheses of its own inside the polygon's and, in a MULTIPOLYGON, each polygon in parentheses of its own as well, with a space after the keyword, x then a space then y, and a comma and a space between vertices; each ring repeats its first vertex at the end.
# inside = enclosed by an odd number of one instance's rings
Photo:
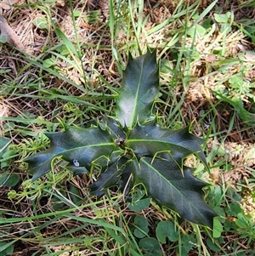
POLYGON ((48 150, 26 158, 32 180, 47 174, 54 158, 60 157, 74 174, 99 171, 89 187, 98 198, 113 187, 128 196, 142 185, 159 206, 212 228, 215 213, 202 191, 207 184, 184 166, 184 159, 194 154, 207 168, 203 139, 190 134, 189 128, 171 130, 157 124, 159 88, 156 50, 137 59, 129 56, 122 87, 116 88, 115 117, 103 117, 89 128, 65 124, 64 132, 46 134, 51 140, 48 150))

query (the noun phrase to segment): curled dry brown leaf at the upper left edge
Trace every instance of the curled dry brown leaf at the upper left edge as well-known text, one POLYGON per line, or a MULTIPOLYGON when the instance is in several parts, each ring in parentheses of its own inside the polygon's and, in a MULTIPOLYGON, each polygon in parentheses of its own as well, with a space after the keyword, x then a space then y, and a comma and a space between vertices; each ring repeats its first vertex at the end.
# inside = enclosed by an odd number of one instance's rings
POLYGON ((23 44, 20 42, 20 38, 15 34, 13 29, 8 26, 8 22, 0 14, 0 37, 6 37, 6 42, 14 45, 17 48, 25 50, 23 44))

